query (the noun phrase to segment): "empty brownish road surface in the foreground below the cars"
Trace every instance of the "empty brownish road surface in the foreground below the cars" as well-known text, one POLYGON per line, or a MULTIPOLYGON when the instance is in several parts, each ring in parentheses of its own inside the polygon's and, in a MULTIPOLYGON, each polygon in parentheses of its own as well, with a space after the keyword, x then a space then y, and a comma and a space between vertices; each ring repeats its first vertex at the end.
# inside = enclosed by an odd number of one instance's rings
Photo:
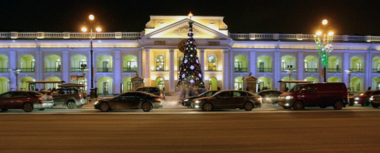
POLYGON ((0 113, 0 152, 380 152, 380 109, 0 113))

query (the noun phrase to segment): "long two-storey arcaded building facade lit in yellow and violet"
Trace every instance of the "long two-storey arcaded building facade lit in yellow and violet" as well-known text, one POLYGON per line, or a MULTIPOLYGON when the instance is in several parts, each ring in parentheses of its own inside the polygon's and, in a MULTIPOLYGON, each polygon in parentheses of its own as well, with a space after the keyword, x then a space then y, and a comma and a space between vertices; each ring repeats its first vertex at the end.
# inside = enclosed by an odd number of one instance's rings
MULTIPOLYGON (((137 72, 145 86, 175 92, 183 58, 178 48, 187 39, 189 21, 187 16, 150 16, 142 32, 96 33, 94 84, 99 94, 130 91, 137 72)), ((260 89, 280 89, 279 80, 323 82, 313 35, 230 33, 219 16, 193 16, 192 21, 208 89, 242 89, 241 78, 249 72, 258 78, 260 89), (288 67, 293 68, 291 75, 288 67)), ((27 81, 33 80, 90 85, 89 38, 89 33, 0 32, 0 93, 17 87, 30 90, 27 81)), ((380 37, 333 39, 328 82, 344 82, 356 93, 379 89, 380 37)))

